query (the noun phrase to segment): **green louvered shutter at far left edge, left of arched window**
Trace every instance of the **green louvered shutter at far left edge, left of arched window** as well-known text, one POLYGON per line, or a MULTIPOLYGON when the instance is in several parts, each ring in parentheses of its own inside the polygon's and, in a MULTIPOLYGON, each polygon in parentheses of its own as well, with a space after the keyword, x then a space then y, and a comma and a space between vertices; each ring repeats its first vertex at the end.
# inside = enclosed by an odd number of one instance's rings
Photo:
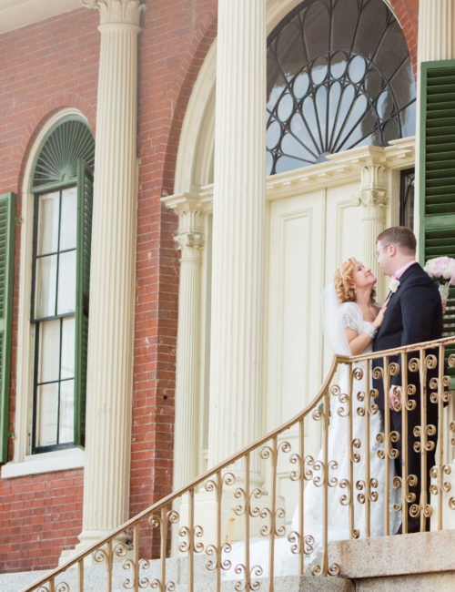
POLYGON ((8 459, 11 324, 15 276, 15 194, 0 195, 0 462, 8 459))

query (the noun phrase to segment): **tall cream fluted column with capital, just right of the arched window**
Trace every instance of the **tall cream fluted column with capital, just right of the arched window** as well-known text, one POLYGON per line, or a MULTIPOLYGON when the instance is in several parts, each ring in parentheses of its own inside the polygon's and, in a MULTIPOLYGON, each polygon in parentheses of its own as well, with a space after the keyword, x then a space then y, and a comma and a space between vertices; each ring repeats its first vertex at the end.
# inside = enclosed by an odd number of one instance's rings
POLYGON ((128 518, 136 269, 140 0, 82 0, 100 13, 81 542, 128 518))

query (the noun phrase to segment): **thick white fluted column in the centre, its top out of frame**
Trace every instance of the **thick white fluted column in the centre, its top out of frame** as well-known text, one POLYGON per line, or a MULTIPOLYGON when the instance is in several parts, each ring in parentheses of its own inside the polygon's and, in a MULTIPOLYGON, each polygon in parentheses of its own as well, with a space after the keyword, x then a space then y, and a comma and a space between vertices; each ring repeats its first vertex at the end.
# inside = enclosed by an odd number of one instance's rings
POLYGON ((265 5, 218 2, 209 465, 257 438, 261 427, 265 5))

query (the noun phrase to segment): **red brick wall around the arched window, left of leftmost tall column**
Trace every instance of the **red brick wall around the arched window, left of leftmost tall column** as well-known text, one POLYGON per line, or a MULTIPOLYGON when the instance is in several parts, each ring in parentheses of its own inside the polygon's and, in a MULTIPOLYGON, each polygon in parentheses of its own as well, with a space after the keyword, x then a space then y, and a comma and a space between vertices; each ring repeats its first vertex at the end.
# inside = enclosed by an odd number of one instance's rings
MULTIPOLYGON (((53 112, 77 107, 95 128, 98 15, 81 9, 0 36, 0 193, 17 193, 35 136, 53 112)), ((15 419, 15 364, 21 225, 16 225, 10 430, 15 419)), ((10 440, 9 457, 14 440, 10 440)), ((82 525, 81 470, 0 480, 0 569, 56 566, 82 525)))

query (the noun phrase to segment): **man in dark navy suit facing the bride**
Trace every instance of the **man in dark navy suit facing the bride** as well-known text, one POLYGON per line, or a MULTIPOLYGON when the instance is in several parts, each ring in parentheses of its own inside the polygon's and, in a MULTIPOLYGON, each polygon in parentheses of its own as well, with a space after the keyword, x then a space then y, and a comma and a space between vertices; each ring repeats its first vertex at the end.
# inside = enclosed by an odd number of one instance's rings
MULTIPOLYGON (((400 345, 428 342, 439 339, 442 334, 442 308, 440 293, 434 281, 420 267, 416 261, 416 239, 411 230, 403 226, 391 227, 379 234, 376 240, 376 256, 380 269, 390 278, 390 285, 394 284, 395 291, 391 291, 388 299, 387 311, 384 321, 373 342, 373 352, 388 350, 400 345)), ((392 289, 393 290, 393 289, 392 289)), ((429 353, 428 351, 426 352, 429 353)), ((409 356, 410 359, 411 356, 409 356)), ((389 362, 399 362, 399 358, 390 357, 389 362)), ((379 361, 373 361, 373 367, 382 365, 379 361)), ((397 475, 402 476, 404 459, 401 454, 401 441, 405 434, 401 434, 401 412, 393 410, 393 403, 400 400, 400 391, 396 387, 401 385, 401 373, 390 377, 389 393, 383 393, 382 381, 374 381, 374 386, 379 390, 379 409, 384 411, 384 405, 389 403, 391 430, 399 433, 399 442, 396 444, 399 457, 396 459, 397 475)), ((431 375, 435 375, 433 371, 431 375)), ((430 373, 430 372, 429 372, 430 373)), ((436 374, 437 375, 437 374, 436 374)), ((427 425, 438 425, 438 407, 430 403, 430 376, 427 380, 427 425)), ((416 393, 412 397, 416 401, 416 408, 408 412, 408 475, 416 475, 418 484, 410 487, 410 492, 416 494, 414 503, 420 503, 420 453, 415 452, 414 443, 416 436, 414 427, 420 425, 420 383, 419 373, 408 371, 408 383, 415 384, 416 393)), ((436 435, 431 438, 436 443, 436 435)), ((434 464, 434 449, 427 453, 427 467, 434 464)), ((427 475, 427 492, 430 486, 430 476, 427 475)), ((428 494, 427 494, 428 495, 428 494)), ((429 499, 427 498, 427 503, 429 499)), ((420 518, 409 518, 408 532, 420 530, 420 518)))

